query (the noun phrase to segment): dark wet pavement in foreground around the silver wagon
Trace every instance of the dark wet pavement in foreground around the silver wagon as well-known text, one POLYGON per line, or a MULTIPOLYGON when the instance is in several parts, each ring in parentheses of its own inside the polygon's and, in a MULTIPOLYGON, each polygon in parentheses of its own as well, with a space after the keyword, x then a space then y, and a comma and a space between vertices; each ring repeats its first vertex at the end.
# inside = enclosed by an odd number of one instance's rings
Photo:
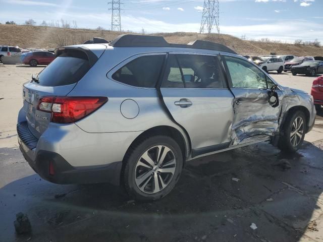
POLYGON ((0 189, 0 241, 321 241, 321 145, 306 142, 291 156, 260 143, 190 161, 153 203, 107 184, 51 184, 19 150, 0 149, 1 180, 12 180, 0 189), (32 233, 16 235, 18 212, 32 233))

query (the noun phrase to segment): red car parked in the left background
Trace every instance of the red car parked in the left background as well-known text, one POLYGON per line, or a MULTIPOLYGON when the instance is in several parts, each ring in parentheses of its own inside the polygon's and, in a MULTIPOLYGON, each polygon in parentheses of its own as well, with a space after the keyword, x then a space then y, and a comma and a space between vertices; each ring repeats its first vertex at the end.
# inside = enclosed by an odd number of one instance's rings
POLYGON ((32 67, 48 65, 55 59, 55 54, 47 51, 34 51, 21 55, 21 62, 32 67))

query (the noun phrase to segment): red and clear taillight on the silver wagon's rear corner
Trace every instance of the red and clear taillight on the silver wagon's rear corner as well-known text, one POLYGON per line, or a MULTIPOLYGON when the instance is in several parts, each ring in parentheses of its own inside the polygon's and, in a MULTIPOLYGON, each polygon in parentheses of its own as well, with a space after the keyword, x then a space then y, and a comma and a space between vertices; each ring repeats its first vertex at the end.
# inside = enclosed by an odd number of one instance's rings
POLYGON ((51 122, 69 124, 94 112, 107 97, 41 97, 37 109, 51 113, 51 122))

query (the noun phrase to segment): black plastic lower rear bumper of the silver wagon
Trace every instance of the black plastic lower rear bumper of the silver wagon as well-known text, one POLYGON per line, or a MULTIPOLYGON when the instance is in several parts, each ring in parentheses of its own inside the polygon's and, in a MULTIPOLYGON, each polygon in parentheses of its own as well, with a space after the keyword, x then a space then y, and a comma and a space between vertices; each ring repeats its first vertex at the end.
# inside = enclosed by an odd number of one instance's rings
MULTIPOLYGON (((24 124, 23 124, 24 125, 24 124)), ((112 162, 106 165, 91 166, 72 166, 60 154, 39 150, 35 153, 36 148, 28 144, 28 140, 32 139, 32 134, 28 127, 22 131, 21 124, 17 125, 18 143, 20 150, 29 165, 43 179, 57 184, 91 184, 91 183, 111 183, 120 185, 120 174, 122 169, 122 161, 112 162), (25 136, 29 138, 26 139, 25 136), (31 149, 33 148, 33 149, 31 149), (49 174, 49 164, 53 167, 53 174, 49 174)), ((36 139, 34 137, 34 139, 36 139)), ((93 157, 94 158, 94 157, 93 157)))

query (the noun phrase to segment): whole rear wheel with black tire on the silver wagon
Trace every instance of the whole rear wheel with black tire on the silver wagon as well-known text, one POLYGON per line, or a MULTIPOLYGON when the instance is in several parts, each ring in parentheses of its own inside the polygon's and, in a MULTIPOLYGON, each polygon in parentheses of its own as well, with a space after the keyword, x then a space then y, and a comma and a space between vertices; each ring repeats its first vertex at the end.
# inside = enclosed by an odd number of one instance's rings
POLYGON ((158 200, 172 191, 183 167, 180 146, 168 136, 149 137, 125 156, 124 186, 140 201, 158 200))

